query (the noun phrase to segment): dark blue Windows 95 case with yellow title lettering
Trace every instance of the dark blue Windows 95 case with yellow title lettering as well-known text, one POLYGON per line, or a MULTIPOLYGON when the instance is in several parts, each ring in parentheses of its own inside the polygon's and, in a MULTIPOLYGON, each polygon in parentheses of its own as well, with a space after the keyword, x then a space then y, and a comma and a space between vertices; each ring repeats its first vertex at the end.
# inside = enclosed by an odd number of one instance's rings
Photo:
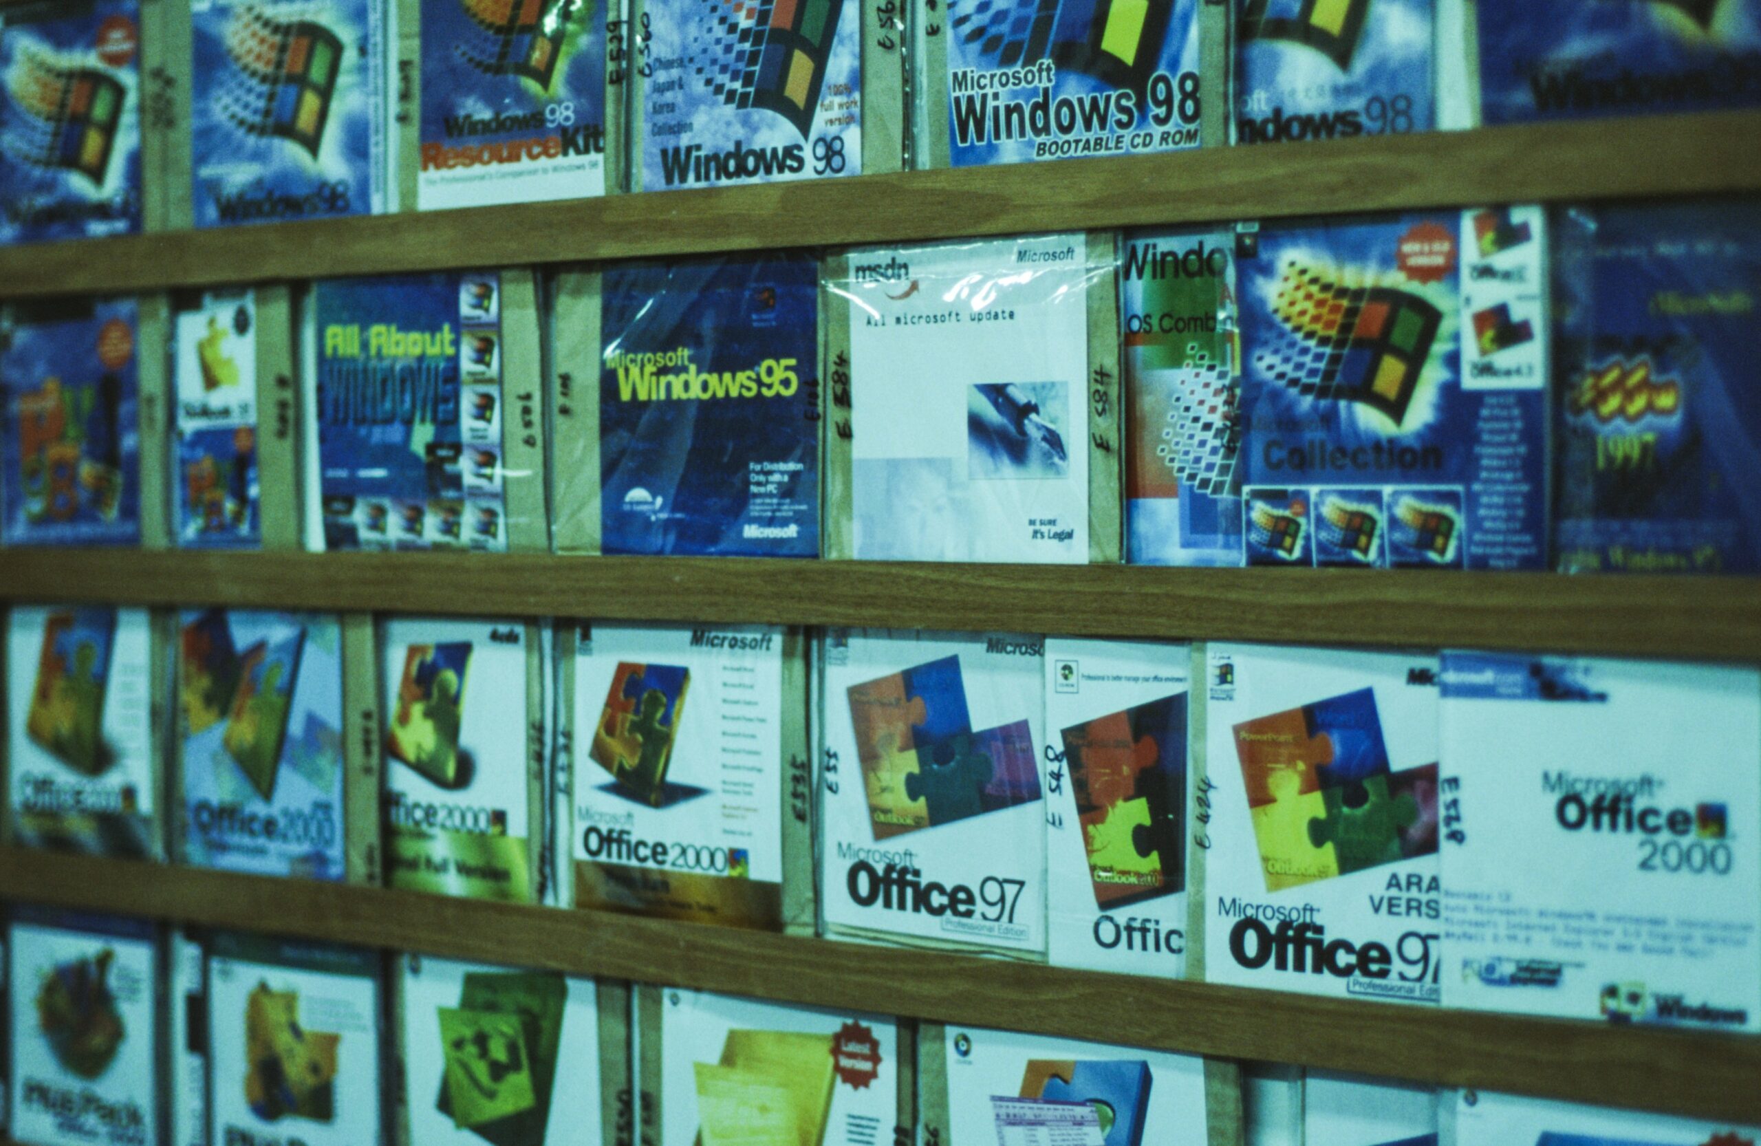
POLYGON ((819 266, 604 273, 604 553, 819 556, 819 266))

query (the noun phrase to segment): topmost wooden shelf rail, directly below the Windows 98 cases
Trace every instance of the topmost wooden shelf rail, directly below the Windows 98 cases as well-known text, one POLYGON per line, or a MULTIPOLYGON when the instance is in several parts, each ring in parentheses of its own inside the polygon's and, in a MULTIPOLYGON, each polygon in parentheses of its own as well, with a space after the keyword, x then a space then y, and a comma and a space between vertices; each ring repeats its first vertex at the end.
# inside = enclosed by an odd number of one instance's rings
POLYGON ((1761 190, 1761 113, 1363 136, 0 248, 0 298, 1761 190))

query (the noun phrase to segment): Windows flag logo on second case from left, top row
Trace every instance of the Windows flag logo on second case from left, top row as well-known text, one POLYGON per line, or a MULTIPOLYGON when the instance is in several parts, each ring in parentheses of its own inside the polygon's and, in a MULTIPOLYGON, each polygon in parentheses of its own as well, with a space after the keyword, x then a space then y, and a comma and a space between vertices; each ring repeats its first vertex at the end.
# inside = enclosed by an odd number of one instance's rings
POLYGON ((343 58, 336 33, 243 7, 227 25, 225 49, 243 79, 222 88, 220 111, 243 132, 287 139, 317 158, 343 58))

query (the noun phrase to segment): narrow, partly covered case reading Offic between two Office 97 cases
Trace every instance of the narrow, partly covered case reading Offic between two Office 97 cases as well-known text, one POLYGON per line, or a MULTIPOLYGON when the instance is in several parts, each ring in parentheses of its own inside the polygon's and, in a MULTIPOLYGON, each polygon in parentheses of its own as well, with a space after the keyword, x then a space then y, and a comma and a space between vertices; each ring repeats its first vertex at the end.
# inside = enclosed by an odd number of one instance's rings
POLYGON ((1046 958, 1187 968, 1192 648, 1046 639, 1046 958))

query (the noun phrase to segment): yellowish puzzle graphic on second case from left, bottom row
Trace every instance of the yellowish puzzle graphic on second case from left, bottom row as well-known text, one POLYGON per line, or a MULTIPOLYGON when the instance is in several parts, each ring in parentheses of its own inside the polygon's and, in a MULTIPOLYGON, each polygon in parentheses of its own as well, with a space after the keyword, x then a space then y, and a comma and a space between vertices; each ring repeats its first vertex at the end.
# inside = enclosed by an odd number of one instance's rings
POLYGON ((308 1030, 299 1021, 299 993, 261 982, 245 1005, 245 1102, 257 1118, 336 1116, 336 1065, 342 1035, 308 1030))

